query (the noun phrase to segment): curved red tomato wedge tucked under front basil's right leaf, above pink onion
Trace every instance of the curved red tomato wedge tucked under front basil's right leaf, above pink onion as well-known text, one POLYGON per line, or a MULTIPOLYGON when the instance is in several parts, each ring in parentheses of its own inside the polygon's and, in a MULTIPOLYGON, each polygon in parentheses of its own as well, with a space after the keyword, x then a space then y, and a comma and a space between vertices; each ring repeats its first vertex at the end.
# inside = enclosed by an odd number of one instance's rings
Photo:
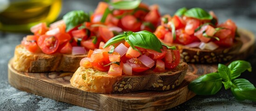
POLYGON ((152 58, 153 60, 163 59, 166 56, 166 53, 167 53, 166 46, 163 46, 163 49, 161 49, 162 52, 157 52, 157 51, 152 50, 152 49, 146 49, 146 50, 149 53, 149 57, 152 58))

